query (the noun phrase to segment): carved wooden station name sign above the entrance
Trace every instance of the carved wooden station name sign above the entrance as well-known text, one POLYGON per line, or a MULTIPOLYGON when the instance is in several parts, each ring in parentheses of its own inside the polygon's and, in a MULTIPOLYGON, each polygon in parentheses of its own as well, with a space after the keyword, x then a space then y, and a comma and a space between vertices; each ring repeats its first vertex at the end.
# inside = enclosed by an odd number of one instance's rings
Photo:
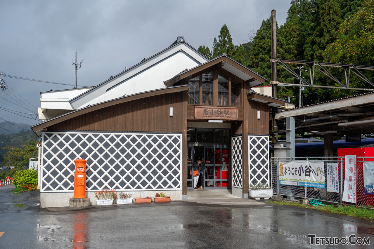
POLYGON ((237 120, 237 107, 195 106, 195 119, 237 120))

